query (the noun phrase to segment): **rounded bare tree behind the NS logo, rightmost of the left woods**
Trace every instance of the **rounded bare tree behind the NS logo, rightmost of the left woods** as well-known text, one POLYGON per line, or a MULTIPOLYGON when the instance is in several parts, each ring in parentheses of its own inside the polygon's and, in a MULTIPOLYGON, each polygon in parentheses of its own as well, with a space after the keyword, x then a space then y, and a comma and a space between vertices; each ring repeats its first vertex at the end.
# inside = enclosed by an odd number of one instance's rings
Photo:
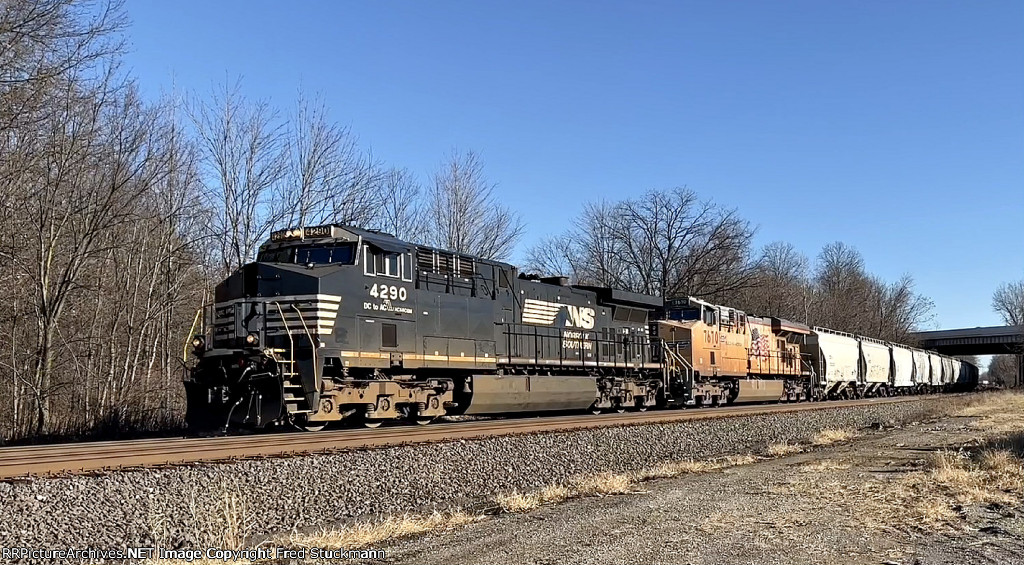
POLYGON ((453 151, 434 174, 427 233, 436 247, 490 259, 508 257, 522 236, 519 216, 498 204, 473 151, 453 151))

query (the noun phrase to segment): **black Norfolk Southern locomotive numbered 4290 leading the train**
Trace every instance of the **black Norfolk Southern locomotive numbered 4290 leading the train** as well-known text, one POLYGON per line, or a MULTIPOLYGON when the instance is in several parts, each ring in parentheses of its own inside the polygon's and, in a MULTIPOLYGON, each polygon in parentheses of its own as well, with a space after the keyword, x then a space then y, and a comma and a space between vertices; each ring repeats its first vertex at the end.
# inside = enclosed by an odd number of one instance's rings
POLYGON ((194 338, 188 425, 367 426, 672 400, 659 298, 340 225, 271 234, 194 338))

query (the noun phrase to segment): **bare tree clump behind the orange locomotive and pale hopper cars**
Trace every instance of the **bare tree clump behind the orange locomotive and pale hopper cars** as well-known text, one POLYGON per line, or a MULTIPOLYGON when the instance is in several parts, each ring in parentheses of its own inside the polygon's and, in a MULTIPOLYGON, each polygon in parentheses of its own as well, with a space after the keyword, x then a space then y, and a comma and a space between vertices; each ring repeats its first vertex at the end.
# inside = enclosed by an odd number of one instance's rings
POLYGON ((527 265, 573 281, 666 298, 693 296, 777 316, 906 343, 932 302, 913 278, 869 273, 837 242, 812 262, 786 242, 755 249, 755 228, 736 210, 683 188, 588 204, 564 233, 530 248, 527 265))

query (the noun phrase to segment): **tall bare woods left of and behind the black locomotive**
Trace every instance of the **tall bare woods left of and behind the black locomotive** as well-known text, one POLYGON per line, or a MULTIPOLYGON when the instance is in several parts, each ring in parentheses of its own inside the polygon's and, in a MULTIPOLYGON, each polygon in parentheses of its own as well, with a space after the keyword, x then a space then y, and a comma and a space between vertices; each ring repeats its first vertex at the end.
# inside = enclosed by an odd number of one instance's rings
POLYGON ((0 442, 180 426, 184 344, 270 230, 337 222, 483 256, 523 224, 472 151, 421 181, 323 101, 143 100, 118 0, 0 3, 0 442))

